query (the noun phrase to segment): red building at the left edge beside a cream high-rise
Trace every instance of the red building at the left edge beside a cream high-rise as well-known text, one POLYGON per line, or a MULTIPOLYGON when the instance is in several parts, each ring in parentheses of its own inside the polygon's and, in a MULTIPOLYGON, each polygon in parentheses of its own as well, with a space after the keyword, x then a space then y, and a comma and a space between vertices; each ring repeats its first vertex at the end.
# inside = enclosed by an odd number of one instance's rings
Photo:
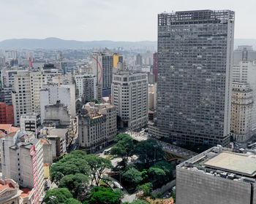
POLYGON ((0 124, 14 124, 13 106, 7 106, 6 103, 0 103, 0 124))

